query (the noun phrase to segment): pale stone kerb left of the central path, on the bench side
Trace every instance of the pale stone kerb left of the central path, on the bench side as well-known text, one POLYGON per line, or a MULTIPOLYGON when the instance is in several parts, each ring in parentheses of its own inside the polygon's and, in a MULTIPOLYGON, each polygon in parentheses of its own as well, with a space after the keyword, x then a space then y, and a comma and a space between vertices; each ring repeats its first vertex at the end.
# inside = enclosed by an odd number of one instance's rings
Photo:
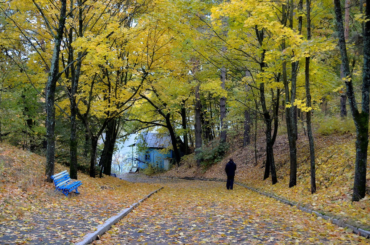
POLYGON ((75 245, 91 244, 93 241, 95 241, 97 239, 98 236, 103 235, 106 231, 108 231, 112 227, 112 225, 116 224, 118 221, 120 221, 120 219, 122 219, 129 212, 131 212, 132 209, 134 209, 135 207, 138 207, 142 202, 145 201, 145 199, 148 199, 151 195, 160 191, 161 189, 163 189, 163 187, 151 192, 150 194, 146 195, 144 198, 140 199, 138 202, 135 202, 135 203, 131 204, 129 208, 126 208, 126 209, 122 210, 121 212, 119 212, 117 215, 107 219, 104 222, 104 224, 98 225, 96 227, 96 231, 85 235, 83 240, 76 243, 75 245))

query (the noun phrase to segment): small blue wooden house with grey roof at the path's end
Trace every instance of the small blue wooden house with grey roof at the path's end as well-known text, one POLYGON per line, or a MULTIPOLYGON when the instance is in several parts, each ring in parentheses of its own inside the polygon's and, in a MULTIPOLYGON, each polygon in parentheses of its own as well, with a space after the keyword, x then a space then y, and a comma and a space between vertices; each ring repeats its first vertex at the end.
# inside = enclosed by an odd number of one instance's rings
POLYGON ((144 133, 139 136, 135 145, 137 147, 137 167, 147 168, 148 165, 168 170, 172 159, 171 137, 158 133, 144 133))

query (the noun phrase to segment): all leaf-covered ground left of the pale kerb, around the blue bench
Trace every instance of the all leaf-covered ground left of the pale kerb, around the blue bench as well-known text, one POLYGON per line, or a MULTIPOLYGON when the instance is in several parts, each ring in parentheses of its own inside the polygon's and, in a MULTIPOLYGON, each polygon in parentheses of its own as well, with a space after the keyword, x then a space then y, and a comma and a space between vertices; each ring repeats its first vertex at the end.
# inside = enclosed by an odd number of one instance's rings
POLYGON ((0 244, 70 244, 160 187, 79 173, 80 194, 65 197, 43 181, 45 158, 9 145, 0 157, 0 244))

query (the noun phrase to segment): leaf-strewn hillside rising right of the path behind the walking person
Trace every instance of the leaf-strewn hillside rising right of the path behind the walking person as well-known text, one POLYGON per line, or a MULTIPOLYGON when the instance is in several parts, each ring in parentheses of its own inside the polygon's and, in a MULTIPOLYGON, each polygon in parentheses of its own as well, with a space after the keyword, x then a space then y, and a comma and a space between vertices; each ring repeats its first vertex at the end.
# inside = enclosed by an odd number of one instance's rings
MULTIPOLYGON (((224 167, 232 157, 238 165, 236 181, 251 187, 270 192, 290 201, 323 213, 329 212, 336 217, 342 217, 347 222, 365 229, 370 228, 370 168, 367 168, 367 196, 360 202, 351 204, 351 188, 354 175, 354 141, 353 134, 332 134, 329 136, 315 135, 316 148, 316 185, 317 193, 310 194, 310 163, 307 137, 299 135, 297 141, 297 186, 288 188, 289 184, 289 144, 284 135, 277 137, 274 146, 277 165, 278 183, 271 184, 271 179, 263 181, 263 161, 265 160, 265 142, 263 135, 258 141, 258 164, 255 166, 254 150, 251 146, 241 147, 229 152, 218 164, 204 171, 196 167, 191 156, 187 157, 181 167, 162 174, 176 177, 203 177, 224 179, 224 167), (360 221, 354 223, 354 221, 360 221)), ((238 142, 241 145, 240 139, 238 142)), ((235 142, 234 142, 235 145, 235 142)), ((369 152, 370 153, 370 152, 369 152)))

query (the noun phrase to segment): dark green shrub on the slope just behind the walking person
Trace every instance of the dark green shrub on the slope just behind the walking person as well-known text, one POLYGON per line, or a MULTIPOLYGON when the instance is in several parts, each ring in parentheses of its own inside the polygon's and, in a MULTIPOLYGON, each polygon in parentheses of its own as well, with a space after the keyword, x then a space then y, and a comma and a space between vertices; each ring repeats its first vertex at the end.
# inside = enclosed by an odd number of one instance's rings
POLYGON ((229 144, 225 143, 215 143, 212 142, 210 146, 203 145, 195 154, 196 160, 201 160, 201 165, 203 169, 208 169, 213 164, 220 162, 228 150, 229 144))

